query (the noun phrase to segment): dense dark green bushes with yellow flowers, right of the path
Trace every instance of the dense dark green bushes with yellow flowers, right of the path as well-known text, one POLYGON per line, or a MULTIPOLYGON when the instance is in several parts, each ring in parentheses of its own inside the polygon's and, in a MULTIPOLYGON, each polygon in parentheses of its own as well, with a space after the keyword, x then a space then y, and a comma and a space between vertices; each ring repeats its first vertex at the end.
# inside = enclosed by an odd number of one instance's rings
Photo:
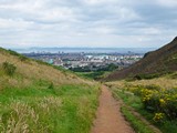
POLYGON ((164 117, 168 120, 177 119, 177 89, 134 86, 129 91, 140 96, 145 110, 155 113, 155 122, 162 122, 164 117), (158 116, 157 114, 163 115, 158 116))

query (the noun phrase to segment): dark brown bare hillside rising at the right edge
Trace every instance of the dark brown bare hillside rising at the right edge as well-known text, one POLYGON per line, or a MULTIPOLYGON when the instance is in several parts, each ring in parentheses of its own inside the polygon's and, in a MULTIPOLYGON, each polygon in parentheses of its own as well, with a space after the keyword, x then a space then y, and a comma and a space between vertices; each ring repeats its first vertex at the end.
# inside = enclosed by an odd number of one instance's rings
POLYGON ((113 81, 127 78, 150 79, 174 71, 177 71, 177 37, 165 47, 146 53, 135 64, 113 72, 104 80, 113 81))

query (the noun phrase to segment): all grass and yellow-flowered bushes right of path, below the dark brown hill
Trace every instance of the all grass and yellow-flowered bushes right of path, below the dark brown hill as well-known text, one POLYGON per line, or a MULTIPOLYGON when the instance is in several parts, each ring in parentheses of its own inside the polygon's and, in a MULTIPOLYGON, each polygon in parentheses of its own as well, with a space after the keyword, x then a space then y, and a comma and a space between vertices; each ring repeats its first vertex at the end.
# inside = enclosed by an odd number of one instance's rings
MULTIPOLYGON (((145 117, 158 126, 163 133, 177 131, 177 76, 176 72, 152 80, 107 82, 116 99, 122 99, 126 106, 123 113, 135 127, 136 121, 145 117), (129 109, 131 106, 131 109, 129 109), (135 110, 132 110, 132 108, 135 110), (126 111, 124 111, 126 110, 126 111), (142 114, 134 115, 138 112, 142 114), (131 114, 131 115, 129 115, 131 114), (136 117, 136 119, 132 119, 136 117)), ((143 123, 144 121, 142 121, 143 123)), ((139 127, 139 129, 140 129, 139 127)), ((136 131, 138 131, 136 129, 136 131)))

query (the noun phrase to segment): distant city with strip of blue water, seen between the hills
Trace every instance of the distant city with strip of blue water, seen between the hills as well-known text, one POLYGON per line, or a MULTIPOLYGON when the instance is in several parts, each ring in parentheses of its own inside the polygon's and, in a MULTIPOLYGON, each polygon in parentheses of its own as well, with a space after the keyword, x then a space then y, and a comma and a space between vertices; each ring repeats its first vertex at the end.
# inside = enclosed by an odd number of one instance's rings
POLYGON ((59 50, 55 48, 43 48, 31 50, 23 50, 21 52, 25 57, 41 60, 53 65, 63 66, 64 69, 74 71, 87 72, 106 70, 113 65, 118 69, 126 68, 140 60, 146 52, 154 49, 60 48, 59 50))

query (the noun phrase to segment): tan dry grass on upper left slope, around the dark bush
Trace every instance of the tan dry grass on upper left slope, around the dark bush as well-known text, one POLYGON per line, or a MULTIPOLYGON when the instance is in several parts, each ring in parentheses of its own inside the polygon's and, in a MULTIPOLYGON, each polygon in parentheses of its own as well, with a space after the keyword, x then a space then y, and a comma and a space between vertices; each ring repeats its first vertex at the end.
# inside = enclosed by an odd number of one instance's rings
MULTIPOLYGON (((52 82, 54 85, 72 83, 93 84, 91 81, 85 81, 73 73, 62 72, 53 69, 52 66, 40 64, 31 60, 21 61, 18 57, 4 52, 0 52, 0 75, 1 84, 6 85, 7 83, 8 85, 11 84, 12 86, 28 86, 33 84, 33 81, 35 82, 38 80, 52 82), (13 78, 7 76, 2 71, 1 64, 6 61, 17 66, 15 75, 13 78)), ((3 85, 1 85, 0 89, 2 89, 3 85)))

